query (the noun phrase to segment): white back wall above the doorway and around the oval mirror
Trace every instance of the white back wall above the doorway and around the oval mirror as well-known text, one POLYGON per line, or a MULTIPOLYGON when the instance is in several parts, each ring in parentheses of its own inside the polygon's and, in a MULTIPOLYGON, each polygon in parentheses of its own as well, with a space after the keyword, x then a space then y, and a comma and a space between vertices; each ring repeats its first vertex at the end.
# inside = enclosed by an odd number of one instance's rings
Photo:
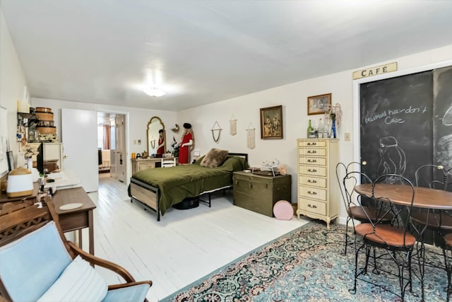
MULTIPOLYGON (((54 112, 54 124, 57 126, 57 135, 61 141, 61 108, 94 110, 96 112, 118 113, 126 115, 126 157, 131 158, 132 152, 142 153, 146 150, 146 129, 148 122, 153 116, 160 117, 165 124, 167 141, 172 139, 172 131, 170 130, 176 124, 176 113, 162 110, 148 110, 141 108, 128 108, 113 105, 99 105, 93 103, 78 103, 66 100, 52 100, 47 98, 32 98, 31 104, 33 107, 47 107, 52 108, 54 112), (141 145, 133 144, 133 141, 141 139, 141 145)), ((77 125, 74 125, 77 127, 77 125)), ((93 131, 97 131, 94 129, 93 131)), ((180 133, 180 132, 179 132, 180 133)), ((81 134, 83 135, 83 134, 81 134)), ((169 145, 167 145, 169 148, 169 145)), ((131 176, 131 164, 127 161, 126 180, 129 182, 131 176)))

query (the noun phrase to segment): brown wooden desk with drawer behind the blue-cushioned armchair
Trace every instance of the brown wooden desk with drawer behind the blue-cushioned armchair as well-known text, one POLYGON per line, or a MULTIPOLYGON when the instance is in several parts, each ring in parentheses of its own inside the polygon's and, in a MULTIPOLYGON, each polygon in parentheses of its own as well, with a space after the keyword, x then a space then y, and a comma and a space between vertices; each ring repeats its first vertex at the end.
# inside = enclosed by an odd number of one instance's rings
POLYGON ((93 209, 96 208, 94 202, 86 194, 83 187, 58 190, 52 197, 55 212, 58 214, 59 224, 64 232, 78 230, 78 246, 82 248, 82 228, 88 228, 90 254, 94 255, 94 223, 93 209), (64 204, 80 202, 81 207, 77 209, 61 210, 64 204))

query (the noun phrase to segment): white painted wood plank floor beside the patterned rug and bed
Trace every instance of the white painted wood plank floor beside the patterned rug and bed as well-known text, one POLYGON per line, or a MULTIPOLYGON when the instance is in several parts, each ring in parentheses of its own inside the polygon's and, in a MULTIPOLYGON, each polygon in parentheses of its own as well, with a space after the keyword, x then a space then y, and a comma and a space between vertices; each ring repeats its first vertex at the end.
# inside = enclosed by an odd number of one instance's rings
MULTIPOLYGON (((148 300, 161 301, 247 252, 283 236, 308 220, 280 221, 232 204, 232 191, 189 210, 171 208, 160 222, 154 211, 130 202, 127 186, 100 174, 89 194, 94 210, 95 255, 115 262, 137 280, 152 280, 148 300)), ((83 248, 88 250, 88 231, 83 248)), ((98 269, 109 284, 119 279, 98 269)))

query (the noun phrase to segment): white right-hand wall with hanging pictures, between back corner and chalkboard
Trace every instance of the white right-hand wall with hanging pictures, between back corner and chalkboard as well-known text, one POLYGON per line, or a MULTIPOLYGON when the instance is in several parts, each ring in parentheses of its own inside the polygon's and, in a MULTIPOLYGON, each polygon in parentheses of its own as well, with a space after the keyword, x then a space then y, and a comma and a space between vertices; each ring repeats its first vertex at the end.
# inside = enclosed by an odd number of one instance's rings
MULTIPOLYGON (((420 69, 437 62, 445 62, 452 59, 452 45, 436 50, 413 54, 408 57, 389 59, 387 62, 376 62, 371 66, 378 66, 388 62, 398 63, 398 74, 411 69, 420 69)), ((354 158, 354 150, 357 147, 359 132, 359 117, 353 114, 354 105, 357 104, 357 96, 354 92, 352 72, 364 69, 350 69, 337 74, 321 76, 307 81, 300 81, 286 86, 260 91, 239 98, 225 100, 220 103, 203 105, 178 112, 178 119, 182 122, 190 122, 193 125, 196 141, 196 149, 201 149, 201 154, 210 148, 227 149, 231 152, 249 153, 249 163, 258 166, 262 161, 278 158, 281 163, 288 166, 288 173, 292 175, 292 202, 297 201, 297 150, 296 139, 307 137, 308 120, 319 120, 320 115, 307 115, 307 97, 323 93, 333 93, 332 102, 340 103, 343 110, 343 124, 340 125, 338 138, 340 139, 340 161, 348 163, 357 160, 354 158), (355 99, 354 99, 355 98, 355 99), (260 136, 260 108, 275 105, 283 105, 284 139, 261 139, 260 136), (229 120, 232 115, 237 119, 237 134, 229 134, 229 120), (211 131, 215 121, 218 121, 223 129, 218 143, 212 139, 211 131), (247 149, 245 129, 252 123, 256 128, 256 148, 247 149), (344 141, 344 133, 351 134, 351 141, 344 141)), ((391 76, 388 74, 386 77, 391 76)), ((368 78, 365 81, 375 81, 376 78, 368 78)), ((362 81, 361 81, 362 82, 362 81)), ((337 202, 340 202, 338 199, 337 202)), ((345 221, 346 212, 340 202, 340 221, 345 221)))

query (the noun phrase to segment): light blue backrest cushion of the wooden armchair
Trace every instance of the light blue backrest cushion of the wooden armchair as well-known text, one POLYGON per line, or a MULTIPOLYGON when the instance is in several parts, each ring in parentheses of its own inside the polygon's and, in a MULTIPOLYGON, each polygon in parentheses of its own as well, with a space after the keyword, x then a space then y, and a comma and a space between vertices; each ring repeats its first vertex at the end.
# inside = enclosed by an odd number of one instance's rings
POLYGON ((13 301, 37 301, 71 263, 54 221, 0 248, 0 276, 13 301))

